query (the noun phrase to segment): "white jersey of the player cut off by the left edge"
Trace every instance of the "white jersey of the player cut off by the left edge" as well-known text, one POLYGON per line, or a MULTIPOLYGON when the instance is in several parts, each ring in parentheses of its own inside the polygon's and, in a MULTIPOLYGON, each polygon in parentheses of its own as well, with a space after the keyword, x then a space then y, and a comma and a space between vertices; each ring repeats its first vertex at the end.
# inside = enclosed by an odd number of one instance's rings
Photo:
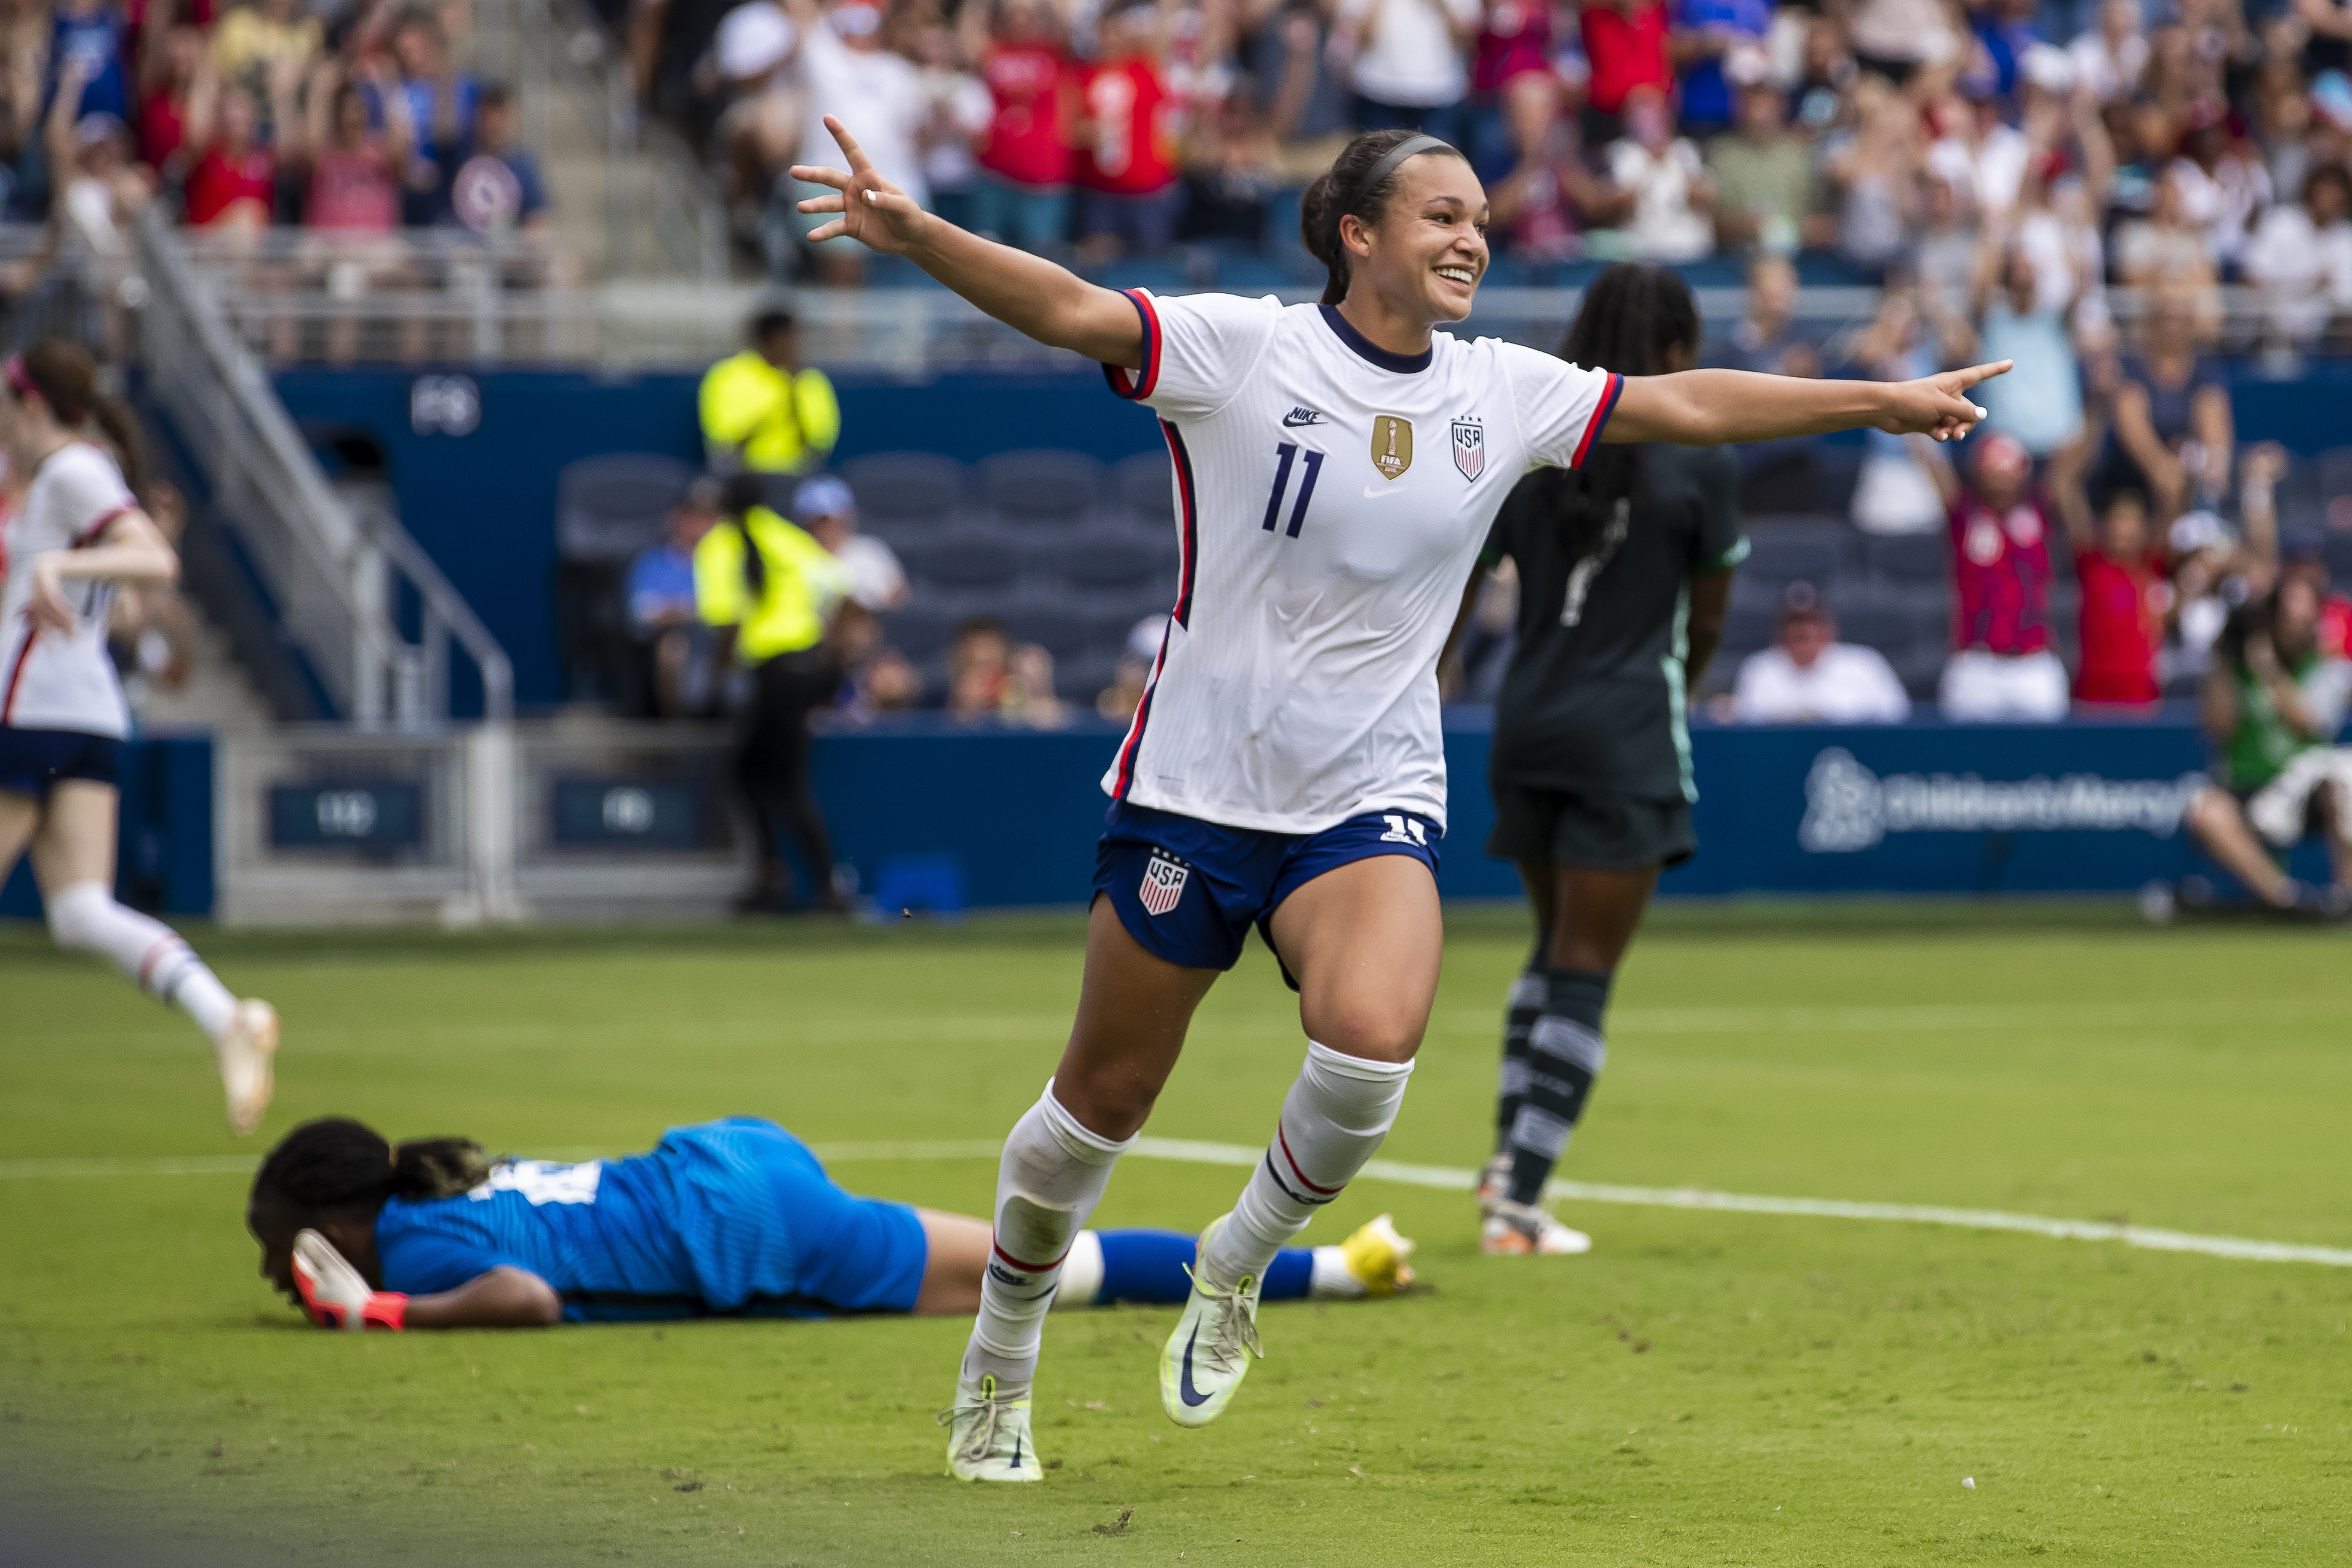
POLYGON ((106 656, 111 583, 66 583, 80 611, 73 635, 33 625, 33 557, 94 545, 106 524, 136 508, 122 470, 89 442, 61 447, 33 473, 7 522, 7 592, 0 595, 0 724, 129 733, 122 682, 106 656))

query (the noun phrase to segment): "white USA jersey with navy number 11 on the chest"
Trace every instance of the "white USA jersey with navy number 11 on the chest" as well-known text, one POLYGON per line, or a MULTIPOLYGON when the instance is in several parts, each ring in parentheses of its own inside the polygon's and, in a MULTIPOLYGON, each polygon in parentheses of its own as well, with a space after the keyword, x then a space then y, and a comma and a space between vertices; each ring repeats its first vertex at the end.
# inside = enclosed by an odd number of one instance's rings
POLYGON ((1322 832, 1446 816, 1437 656, 1510 487, 1573 468, 1621 376, 1437 334, 1369 343, 1329 306, 1131 289, 1183 569, 1150 686, 1103 776, 1115 799, 1322 832))

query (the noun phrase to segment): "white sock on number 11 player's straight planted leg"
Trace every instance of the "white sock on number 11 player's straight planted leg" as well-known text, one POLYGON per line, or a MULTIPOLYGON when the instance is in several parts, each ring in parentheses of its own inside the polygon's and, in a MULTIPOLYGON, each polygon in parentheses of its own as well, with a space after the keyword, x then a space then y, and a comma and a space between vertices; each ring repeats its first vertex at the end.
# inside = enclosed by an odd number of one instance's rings
POLYGON ((1110 1166, 1134 1143, 1112 1143, 1080 1126, 1054 1098, 1051 1079, 1014 1124, 997 1166, 997 1237, 981 1274, 981 1314, 964 1347, 964 1378, 995 1373, 1007 1387, 1037 1378, 1037 1340, 1063 1258, 1103 1201, 1110 1166))

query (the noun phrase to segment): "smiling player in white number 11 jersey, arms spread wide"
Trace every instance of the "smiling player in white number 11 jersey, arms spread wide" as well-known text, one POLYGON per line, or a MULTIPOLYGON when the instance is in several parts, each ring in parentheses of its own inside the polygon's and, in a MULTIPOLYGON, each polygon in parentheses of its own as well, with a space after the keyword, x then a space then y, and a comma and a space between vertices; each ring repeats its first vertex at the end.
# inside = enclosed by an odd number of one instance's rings
POLYGON ((1522 473, 1595 442, 1757 442, 1853 425, 1964 433, 1926 381, 1740 371, 1621 378, 1515 343, 1432 334, 1486 270, 1486 193, 1435 136, 1369 132, 1305 195, 1322 306, 1115 294, 936 219, 880 179, 795 167, 837 195, 811 240, 906 254, 1040 343, 1098 360, 1160 414, 1183 571, 1174 616, 1105 776, 1077 1023, 997 1175, 995 1258, 948 1415, 948 1469, 1030 1481, 1037 1338, 1070 1237, 1103 1197, 1249 926, 1298 990, 1308 1060, 1265 1159, 1200 1239, 1160 1396, 1214 1420, 1261 1354, 1275 1251, 1381 1145, 1437 990, 1444 748, 1437 656, 1496 510, 1522 473))

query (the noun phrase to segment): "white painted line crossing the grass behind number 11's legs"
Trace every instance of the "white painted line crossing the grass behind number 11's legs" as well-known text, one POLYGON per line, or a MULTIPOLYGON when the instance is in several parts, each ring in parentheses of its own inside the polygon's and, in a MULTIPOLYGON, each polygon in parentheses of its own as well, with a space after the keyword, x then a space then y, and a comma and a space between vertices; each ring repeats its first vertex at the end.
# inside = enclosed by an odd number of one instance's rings
MULTIPOLYGON (((967 1138, 960 1143, 818 1143, 809 1145, 828 1164, 889 1164, 901 1159, 995 1159, 1000 1140, 967 1138)), ((602 1150, 550 1150, 555 1159, 595 1159, 602 1150)), ((1202 1143, 1195 1138, 1138 1138, 1129 1159, 1176 1159, 1195 1166, 1249 1168, 1265 1150, 1240 1143, 1202 1143)), ((85 1175, 252 1175, 256 1159, 242 1154, 195 1154, 186 1159, 0 1159, 0 1180, 85 1178, 85 1175)), ((1409 1166, 1395 1159, 1364 1164, 1376 1182, 1470 1192, 1477 1171, 1451 1166, 1409 1166)), ((1708 1192, 1703 1187, 1621 1187, 1616 1182, 1562 1182, 1545 1187, 1548 1197, 1571 1204, 1630 1204, 1635 1208, 1715 1208, 1724 1213, 1783 1213, 1809 1220, 1891 1220, 1896 1225, 1952 1225, 1957 1229, 2009 1229, 2058 1241, 2122 1241, 2157 1253, 2204 1253, 2241 1262, 2317 1262, 2352 1269, 2352 1248, 2303 1246, 2296 1241, 2253 1241, 2249 1237, 2199 1237, 2185 1229, 2152 1225, 2112 1225, 2107 1220, 2051 1220, 2034 1213, 1999 1208, 1943 1208, 1936 1204, 1853 1204, 1846 1199, 1776 1199, 1750 1192, 1708 1192)))

